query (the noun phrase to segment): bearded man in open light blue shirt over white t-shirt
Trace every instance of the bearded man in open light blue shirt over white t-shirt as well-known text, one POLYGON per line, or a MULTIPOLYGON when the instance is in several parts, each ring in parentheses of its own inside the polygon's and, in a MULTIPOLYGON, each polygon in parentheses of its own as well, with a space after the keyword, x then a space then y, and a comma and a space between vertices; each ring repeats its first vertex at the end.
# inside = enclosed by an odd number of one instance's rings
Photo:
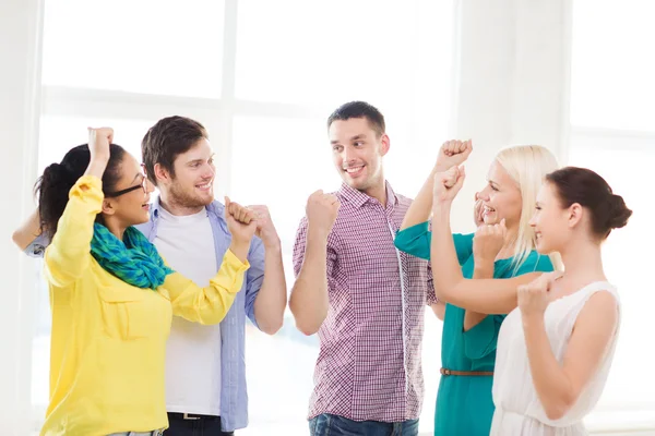
MULTIPOLYGON (((206 286, 230 242, 224 205, 214 199, 216 169, 207 132, 191 119, 165 118, 144 136, 142 154, 159 197, 140 230, 174 269, 206 286)), ((166 356, 166 436, 230 435, 247 425, 246 316, 273 335, 286 306, 279 238, 267 208, 251 208, 258 238, 245 288, 225 319, 202 326, 174 318, 166 356)))

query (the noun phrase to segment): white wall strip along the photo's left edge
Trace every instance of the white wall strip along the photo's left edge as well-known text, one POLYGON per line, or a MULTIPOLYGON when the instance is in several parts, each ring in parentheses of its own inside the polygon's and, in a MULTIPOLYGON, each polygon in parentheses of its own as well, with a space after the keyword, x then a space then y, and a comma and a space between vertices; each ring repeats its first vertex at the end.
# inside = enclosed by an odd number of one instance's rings
POLYGON ((40 76, 37 59, 40 0, 3 0, 0 11, 0 426, 3 435, 27 434, 33 300, 24 256, 11 243, 11 229, 32 205, 25 201, 36 175, 36 132, 40 76), (19 389, 20 387, 20 389, 19 389))

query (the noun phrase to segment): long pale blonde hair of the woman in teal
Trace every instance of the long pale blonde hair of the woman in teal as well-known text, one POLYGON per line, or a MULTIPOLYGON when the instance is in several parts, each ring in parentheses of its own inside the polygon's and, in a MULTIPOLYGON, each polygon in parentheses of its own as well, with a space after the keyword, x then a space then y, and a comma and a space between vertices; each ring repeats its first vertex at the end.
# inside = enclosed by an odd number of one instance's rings
MULTIPOLYGON (((540 145, 519 145, 502 149, 496 161, 516 182, 521 192, 522 208, 519 232, 514 243, 513 265, 516 271, 529 253, 536 247, 536 238, 529 220, 535 213, 537 193, 546 180, 546 174, 559 168, 552 153, 540 145)), ((555 269, 561 269, 559 254, 550 255, 555 269)))

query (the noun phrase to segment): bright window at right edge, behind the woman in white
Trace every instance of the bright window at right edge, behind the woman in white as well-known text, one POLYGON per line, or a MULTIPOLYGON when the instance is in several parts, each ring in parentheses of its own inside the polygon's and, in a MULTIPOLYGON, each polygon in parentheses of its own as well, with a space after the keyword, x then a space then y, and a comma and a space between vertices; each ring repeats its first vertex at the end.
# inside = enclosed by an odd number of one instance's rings
POLYGON ((650 276, 655 214, 655 3, 575 0, 569 164, 600 173, 634 214, 604 246, 621 295, 622 325, 607 388, 590 426, 655 425, 655 374, 647 346, 655 284, 650 276))

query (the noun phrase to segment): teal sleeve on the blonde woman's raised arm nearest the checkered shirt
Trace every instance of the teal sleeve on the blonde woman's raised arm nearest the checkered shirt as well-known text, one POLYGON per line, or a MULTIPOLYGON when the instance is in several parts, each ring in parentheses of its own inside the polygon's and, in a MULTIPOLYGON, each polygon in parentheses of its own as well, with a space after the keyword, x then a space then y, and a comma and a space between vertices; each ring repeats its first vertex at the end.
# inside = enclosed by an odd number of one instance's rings
MULTIPOLYGON (((395 237, 395 246, 402 252, 424 259, 430 259, 430 245, 432 232, 428 228, 428 221, 401 230, 395 237)), ((453 234, 455 251, 460 265, 464 264, 473 254, 473 233, 453 234)))

